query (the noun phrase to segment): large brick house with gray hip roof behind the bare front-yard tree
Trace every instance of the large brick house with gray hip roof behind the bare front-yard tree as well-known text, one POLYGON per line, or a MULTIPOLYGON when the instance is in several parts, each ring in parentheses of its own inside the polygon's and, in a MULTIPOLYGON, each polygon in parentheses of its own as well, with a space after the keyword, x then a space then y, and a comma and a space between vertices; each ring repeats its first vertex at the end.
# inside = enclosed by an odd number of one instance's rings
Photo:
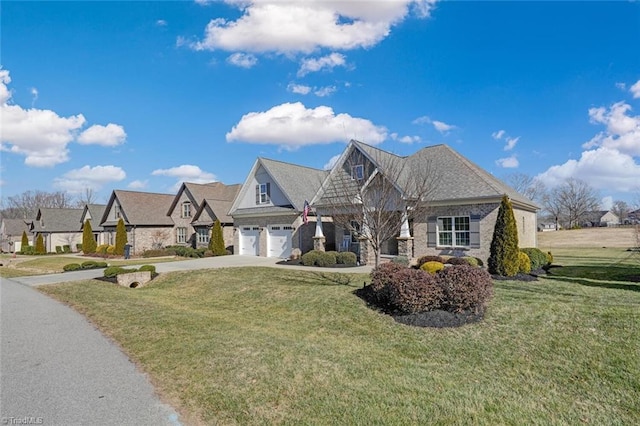
MULTIPOLYGON (((398 240, 400 243, 389 242, 382 247, 383 255, 404 255, 409 258, 439 254, 469 255, 486 263, 498 209, 505 194, 513 205, 519 246, 537 246, 536 212, 539 207, 447 145, 430 146, 408 157, 399 157, 351 141, 323 183, 323 189, 314 198, 312 207, 323 217, 331 214, 335 205, 329 204, 330 195, 326 191, 336 182, 348 181, 341 174, 351 173, 352 185, 366 185, 376 176, 386 179, 388 170, 385 170, 384 164, 402 167, 397 182, 398 191, 408 187, 403 183, 409 182, 414 172, 424 167, 432 168, 437 184, 429 194, 428 213, 415 218, 413 223, 403 222, 403 235, 398 240)), ((411 197, 412 194, 400 195, 411 197)), ((348 208, 345 204, 345 211, 348 208)), ((406 218, 402 210, 402 206, 397 206, 399 221, 406 218)), ((335 229, 334 244, 340 247, 348 233, 345 229, 335 229)), ((327 236, 327 246, 330 242, 327 236)), ((360 263, 373 263, 373 250, 366 246, 366 241, 360 243, 365 244, 358 250, 360 263)))

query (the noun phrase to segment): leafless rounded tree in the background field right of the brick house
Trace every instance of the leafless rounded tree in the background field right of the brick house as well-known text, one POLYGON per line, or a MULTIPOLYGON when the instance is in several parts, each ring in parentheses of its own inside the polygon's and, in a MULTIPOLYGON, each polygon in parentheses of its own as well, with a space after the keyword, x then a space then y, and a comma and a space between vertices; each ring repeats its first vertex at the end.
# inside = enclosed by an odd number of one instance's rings
POLYGON ((545 209, 569 228, 579 226, 599 207, 597 192, 580 179, 569 178, 549 191, 544 199, 545 209))

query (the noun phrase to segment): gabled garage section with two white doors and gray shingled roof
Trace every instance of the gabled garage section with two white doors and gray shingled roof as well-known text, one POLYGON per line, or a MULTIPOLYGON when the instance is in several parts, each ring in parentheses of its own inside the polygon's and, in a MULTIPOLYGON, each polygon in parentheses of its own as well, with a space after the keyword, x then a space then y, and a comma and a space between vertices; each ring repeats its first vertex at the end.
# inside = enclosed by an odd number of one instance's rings
MULTIPOLYGON (((287 258, 295 249, 311 250, 316 218, 304 223, 305 201, 311 201, 327 174, 258 158, 229 211, 234 253, 287 258)), ((333 237, 332 224, 325 225, 325 235, 333 237)))

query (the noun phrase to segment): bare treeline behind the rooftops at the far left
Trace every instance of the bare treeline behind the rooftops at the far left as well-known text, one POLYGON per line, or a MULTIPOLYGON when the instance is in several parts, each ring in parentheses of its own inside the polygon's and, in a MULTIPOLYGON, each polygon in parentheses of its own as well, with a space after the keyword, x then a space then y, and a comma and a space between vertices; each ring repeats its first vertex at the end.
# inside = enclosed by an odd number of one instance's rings
POLYGON ((3 200, 2 214, 6 218, 32 219, 39 208, 73 207, 72 197, 64 191, 26 191, 3 200))

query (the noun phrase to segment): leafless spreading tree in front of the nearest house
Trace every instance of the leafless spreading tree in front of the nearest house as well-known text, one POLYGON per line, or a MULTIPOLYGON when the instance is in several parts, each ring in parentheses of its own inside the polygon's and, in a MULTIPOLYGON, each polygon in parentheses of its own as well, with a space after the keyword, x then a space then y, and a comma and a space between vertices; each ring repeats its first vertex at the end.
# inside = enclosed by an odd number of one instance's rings
POLYGON ((369 243, 377 266, 383 244, 400 236, 403 225, 426 216, 437 177, 428 159, 411 164, 417 159, 374 148, 365 155, 352 146, 325 181, 314 207, 369 243))

